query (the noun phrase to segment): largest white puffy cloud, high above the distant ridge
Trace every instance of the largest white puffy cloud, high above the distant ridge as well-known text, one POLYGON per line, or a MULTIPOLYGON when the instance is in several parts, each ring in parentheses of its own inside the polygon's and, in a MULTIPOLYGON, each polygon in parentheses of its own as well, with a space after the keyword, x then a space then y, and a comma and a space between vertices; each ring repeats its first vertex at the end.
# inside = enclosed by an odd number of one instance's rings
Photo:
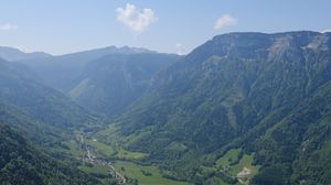
POLYGON ((142 33, 149 25, 158 21, 153 10, 137 10, 136 6, 127 3, 126 8, 117 8, 117 20, 122 22, 136 33, 142 33))

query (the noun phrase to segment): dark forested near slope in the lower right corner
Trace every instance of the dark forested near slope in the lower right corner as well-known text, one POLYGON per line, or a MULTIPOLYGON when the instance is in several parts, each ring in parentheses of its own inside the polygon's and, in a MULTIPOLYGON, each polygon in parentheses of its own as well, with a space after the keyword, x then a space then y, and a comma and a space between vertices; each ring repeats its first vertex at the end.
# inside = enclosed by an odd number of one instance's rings
POLYGON ((330 184, 331 81, 319 87, 247 151, 264 168, 255 184, 330 184))

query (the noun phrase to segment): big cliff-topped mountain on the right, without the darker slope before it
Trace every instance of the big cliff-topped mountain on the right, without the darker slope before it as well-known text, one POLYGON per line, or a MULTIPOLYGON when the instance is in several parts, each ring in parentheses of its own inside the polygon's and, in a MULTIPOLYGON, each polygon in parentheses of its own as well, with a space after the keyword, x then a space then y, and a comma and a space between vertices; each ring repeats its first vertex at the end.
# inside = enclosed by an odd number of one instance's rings
POLYGON ((192 179, 196 166, 183 161, 212 163, 205 157, 222 155, 221 149, 259 124, 255 138, 263 137, 330 81, 330 34, 317 32, 215 36, 160 72, 148 92, 113 120, 117 134, 146 133, 128 149, 192 179), (173 151, 174 143, 185 150, 173 151))

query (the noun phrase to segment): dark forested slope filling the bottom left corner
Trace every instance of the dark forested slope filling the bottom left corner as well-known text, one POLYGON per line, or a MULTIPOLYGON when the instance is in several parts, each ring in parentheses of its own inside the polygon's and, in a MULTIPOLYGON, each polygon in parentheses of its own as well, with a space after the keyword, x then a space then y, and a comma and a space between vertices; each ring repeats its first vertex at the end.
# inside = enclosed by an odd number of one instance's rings
POLYGON ((6 124, 0 124, 0 150, 1 184, 100 184, 39 151, 6 124))

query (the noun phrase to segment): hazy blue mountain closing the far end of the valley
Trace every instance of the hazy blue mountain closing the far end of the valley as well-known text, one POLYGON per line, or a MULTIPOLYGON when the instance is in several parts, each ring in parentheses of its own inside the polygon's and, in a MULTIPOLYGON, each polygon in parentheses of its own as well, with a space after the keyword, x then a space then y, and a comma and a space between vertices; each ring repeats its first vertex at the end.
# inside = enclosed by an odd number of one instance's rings
POLYGON ((36 74, 34 79, 83 107, 114 116, 139 98, 160 69, 178 59, 174 54, 110 46, 19 63, 36 74))

